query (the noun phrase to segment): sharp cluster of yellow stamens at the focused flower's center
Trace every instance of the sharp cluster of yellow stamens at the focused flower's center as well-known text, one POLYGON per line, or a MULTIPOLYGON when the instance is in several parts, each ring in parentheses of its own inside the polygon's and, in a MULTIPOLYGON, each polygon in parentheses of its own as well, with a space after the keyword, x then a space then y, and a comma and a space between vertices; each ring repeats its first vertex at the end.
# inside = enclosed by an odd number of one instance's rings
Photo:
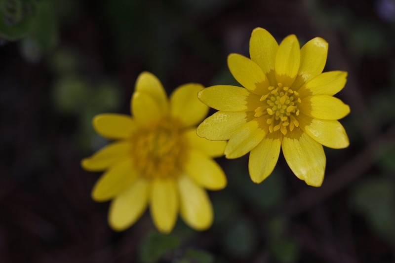
POLYGON ((266 123, 269 124, 270 133, 280 130, 285 135, 287 128, 292 131, 299 126, 295 117, 299 115, 298 104, 301 102, 298 92, 278 83, 276 88, 268 87, 268 93, 260 101, 266 101, 266 104, 255 110, 255 117, 269 115, 266 123))

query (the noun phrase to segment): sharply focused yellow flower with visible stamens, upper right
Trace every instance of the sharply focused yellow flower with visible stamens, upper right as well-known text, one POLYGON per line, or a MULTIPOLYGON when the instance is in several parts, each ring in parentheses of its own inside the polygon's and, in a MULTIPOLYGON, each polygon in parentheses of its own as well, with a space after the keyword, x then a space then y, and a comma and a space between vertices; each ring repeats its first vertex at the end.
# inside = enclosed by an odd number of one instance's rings
POLYGON ((301 49, 295 35, 278 45, 262 28, 250 38, 251 59, 228 57, 232 75, 245 88, 218 85, 198 93, 199 99, 219 110, 197 127, 197 135, 228 140, 227 158, 247 152, 252 181, 262 182, 276 166, 280 148, 293 173, 310 186, 322 184, 326 164, 322 145, 349 145, 337 120, 349 106, 332 97, 343 89, 347 72, 322 73, 328 43, 313 38, 301 49))

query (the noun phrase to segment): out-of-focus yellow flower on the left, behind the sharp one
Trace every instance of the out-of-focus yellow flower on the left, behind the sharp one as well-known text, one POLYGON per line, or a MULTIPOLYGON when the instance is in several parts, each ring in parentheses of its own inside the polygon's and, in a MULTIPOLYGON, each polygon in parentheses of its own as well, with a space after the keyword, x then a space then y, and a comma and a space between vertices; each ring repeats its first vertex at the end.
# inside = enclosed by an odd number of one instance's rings
POLYGON ((217 190, 227 184, 212 159, 223 155, 226 143, 196 135, 196 125, 209 109, 197 99, 202 89, 200 84, 185 84, 168 100, 158 78, 144 72, 131 99, 133 117, 94 117, 97 133, 117 141, 83 159, 81 165, 88 171, 105 170, 92 198, 113 199, 108 220, 114 229, 134 224, 148 204, 161 232, 173 229, 178 211, 197 230, 211 225, 213 211, 205 188, 217 190))

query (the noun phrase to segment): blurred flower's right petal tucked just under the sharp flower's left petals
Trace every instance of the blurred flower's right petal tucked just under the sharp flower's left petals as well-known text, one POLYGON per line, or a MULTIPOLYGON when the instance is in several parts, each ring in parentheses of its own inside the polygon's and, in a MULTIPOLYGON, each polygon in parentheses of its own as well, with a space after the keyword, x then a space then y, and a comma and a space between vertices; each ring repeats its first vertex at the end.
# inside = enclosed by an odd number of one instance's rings
POLYGON ((184 135, 187 137, 188 144, 192 149, 199 150, 210 157, 220 157, 224 155, 226 141, 210 141, 205 138, 200 138, 196 134, 196 128, 188 129, 184 135))

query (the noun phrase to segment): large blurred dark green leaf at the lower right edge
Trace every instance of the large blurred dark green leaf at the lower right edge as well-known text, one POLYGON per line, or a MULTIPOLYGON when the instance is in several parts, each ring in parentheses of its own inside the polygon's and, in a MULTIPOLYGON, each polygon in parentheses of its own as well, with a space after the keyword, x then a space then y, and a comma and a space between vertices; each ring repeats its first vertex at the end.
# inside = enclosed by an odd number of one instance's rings
POLYGON ((352 208, 365 216, 377 235, 395 244, 395 183, 393 178, 372 178, 353 190, 352 208))

